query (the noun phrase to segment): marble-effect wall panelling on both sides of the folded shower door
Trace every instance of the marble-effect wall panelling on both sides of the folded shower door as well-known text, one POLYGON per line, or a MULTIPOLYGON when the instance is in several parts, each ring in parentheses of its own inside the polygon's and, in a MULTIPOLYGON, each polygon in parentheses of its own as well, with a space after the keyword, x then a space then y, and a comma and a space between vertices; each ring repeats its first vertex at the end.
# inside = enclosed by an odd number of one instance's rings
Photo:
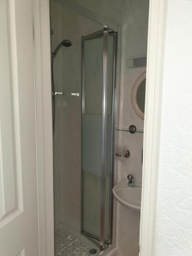
MULTIPOLYGON (((127 59, 146 56, 147 51, 147 27, 148 27, 148 0, 76 0, 79 4, 98 13, 115 24, 122 27, 121 40, 121 74, 120 74, 120 105, 119 105, 119 126, 129 127, 135 124, 138 128, 143 127, 143 120, 134 112, 131 105, 131 90, 137 77, 145 71, 145 68, 127 68, 127 59)), ((57 58, 56 76, 58 89, 65 91, 80 91, 80 36, 101 29, 82 16, 61 8, 61 5, 52 1, 52 36, 53 48, 63 38, 69 38, 73 47, 62 49, 62 54, 57 58), (78 57, 77 57, 78 56, 78 57), (63 63, 62 63, 63 62, 63 63), (62 63, 62 65, 59 65, 62 63), (66 74, 68 74, 66 76, 66 74)), ((55 198, 56 214, 68 214, 72 219, 79 221, 80 218, 80 98, 57 99, 59 120, 58 131, 55 134, 55 198), (74 118, 72 118, 74 117, 74 118), (61 138, 61 134, 68 136, 61 138), (62 143, 61 143, 62 141, 62 143), (66 146, 67 145, 67 146, 66 146), (62 153, 62 154, 61 154, 62 153), (74 160, 67 157, 72 154, 74 160), (58 164, 59 163, 59 164, 58 164), (67 170, 67 171, 65 171, 67 170), (73 185, 71 186, 71 180, 73 185), (75 189, 74 189, 75 187, 75 189), (59 196, 57 196, 59 195, 59 196), (66 199, 66 195, 67 198, 66 199), (67 203, 66 203, 67 200, 67 203), (68 205, 68 209, 66 206, 68 205)), ((131 135, 127 132, 119 132, 119 144, 126 146, 131 157, 124 162, 118 162, 118 181, 125 179, 127 174, 132 173, 135 180, 142 180, 141 150, 143 135, 131 135)), ((139 216, 134 216, 131 210, 117 205, 117 247, 118 255, 127 256, 132 249, 132 256, 138 255, 139 243, 139 216), (132 220, 132 221, 130 221, 132 220), (135 228, 135 229, 134 229, 135 228), (134 248, 130 247, 134 246, 134 248)))

